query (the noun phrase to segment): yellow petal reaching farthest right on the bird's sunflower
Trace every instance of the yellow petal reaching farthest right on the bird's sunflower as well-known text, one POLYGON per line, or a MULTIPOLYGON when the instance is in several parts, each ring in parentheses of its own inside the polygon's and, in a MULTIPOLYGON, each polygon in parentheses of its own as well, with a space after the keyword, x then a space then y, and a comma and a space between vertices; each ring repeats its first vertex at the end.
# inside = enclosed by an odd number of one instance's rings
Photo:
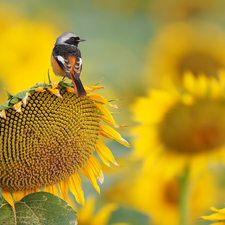
POLYGON ((107 125, 99 125, 99 127, 100 127, 100 134, 102 136, 116 140, 120 144, 122 144, 128 148, 131 147, 130 144, 124 138, 122 138, 121 135, 117 131, 115 131, 113 128, 111 128, 107 125))

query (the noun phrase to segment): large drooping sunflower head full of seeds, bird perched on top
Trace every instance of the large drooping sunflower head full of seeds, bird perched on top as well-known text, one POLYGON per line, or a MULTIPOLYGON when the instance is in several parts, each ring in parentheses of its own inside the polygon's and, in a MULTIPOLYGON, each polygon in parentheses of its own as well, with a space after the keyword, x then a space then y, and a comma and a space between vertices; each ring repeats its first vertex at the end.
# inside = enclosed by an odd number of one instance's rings
MULTIPOLYGON (((91 93, 102 86, 85 87, 91 93)), ((100 95, 77 97, 73 85, 64 82, 37 84, 12 96, 0 106, 0 187, 3 197, 13 205, 24 195, 44 191, 68 200, 70 190, 84 204, 82 172, 100 193, 96 179, 104 176, 96 150, 106 165, 118 165, 101 142, 100 135, 129 147, 116 128, 109 110, 118 109, 100 95), (58 188, 56 186, 58 184, 58 188)), ((123 125, 124 126, 124 125, 123 125)))

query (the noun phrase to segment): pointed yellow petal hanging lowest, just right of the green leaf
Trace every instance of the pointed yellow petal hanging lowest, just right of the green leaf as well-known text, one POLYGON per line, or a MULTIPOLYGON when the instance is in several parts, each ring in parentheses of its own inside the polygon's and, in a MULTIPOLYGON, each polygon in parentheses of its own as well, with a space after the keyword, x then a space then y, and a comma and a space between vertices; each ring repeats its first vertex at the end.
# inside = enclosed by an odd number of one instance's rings
POLYGON ((69 189, 71 193, 75 196, 76 201, 84 206, 84 192, 82 190, 80 176, 75 173, 68 179, 69 189))

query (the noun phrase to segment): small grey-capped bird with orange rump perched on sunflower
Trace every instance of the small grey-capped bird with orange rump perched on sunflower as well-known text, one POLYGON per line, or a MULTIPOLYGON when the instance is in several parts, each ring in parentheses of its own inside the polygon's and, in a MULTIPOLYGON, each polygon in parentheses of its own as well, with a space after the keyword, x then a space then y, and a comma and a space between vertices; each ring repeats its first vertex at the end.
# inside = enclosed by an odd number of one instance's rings
POLYGON ((51 56, 54 74, 71 79, 77 96, 86 95, 86 91, 80 80, 82 58, 78 44, 81 41, 85 40, 80 39, 73 32, 66 32, 57 38, 51 56))

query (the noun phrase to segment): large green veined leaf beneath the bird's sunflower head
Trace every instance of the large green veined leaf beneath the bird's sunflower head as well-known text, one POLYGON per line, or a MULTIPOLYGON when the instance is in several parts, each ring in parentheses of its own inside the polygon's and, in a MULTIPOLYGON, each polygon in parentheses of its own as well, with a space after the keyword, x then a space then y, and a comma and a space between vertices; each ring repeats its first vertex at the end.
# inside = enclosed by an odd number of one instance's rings
POLYGON ((0 224, 76 225, 76 212, 64 200, 48 192, 25 196, 11 209, 0 199, 0 224))

